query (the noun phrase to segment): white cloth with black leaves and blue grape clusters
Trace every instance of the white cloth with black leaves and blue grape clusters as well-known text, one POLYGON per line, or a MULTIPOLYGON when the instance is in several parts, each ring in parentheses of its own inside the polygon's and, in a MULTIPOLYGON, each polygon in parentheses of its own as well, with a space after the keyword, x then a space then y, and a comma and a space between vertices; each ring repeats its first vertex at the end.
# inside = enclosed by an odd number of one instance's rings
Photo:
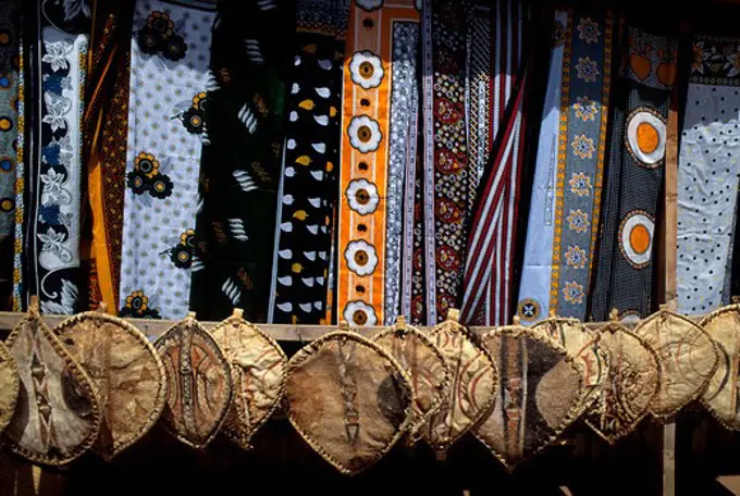
MULTIPOLYGON (((82 175, 83 84, 90 11, 86 3, 39 1, 32 74, 41 82, 29 109, 28 235, 29 294, 45 313, 77 310, 82 175)), ((30 78, 29 78, 30 80, 30 78)))

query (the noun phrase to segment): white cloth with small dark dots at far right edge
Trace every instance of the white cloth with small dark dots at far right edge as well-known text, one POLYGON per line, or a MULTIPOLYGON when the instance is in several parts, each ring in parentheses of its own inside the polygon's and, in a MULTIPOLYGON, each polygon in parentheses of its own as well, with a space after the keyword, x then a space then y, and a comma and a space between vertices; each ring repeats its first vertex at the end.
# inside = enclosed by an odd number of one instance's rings
POLYGON ((739 39, 696 37, 678 163, 678 310, 729 302, 724 290, 740 173, 739 39))

